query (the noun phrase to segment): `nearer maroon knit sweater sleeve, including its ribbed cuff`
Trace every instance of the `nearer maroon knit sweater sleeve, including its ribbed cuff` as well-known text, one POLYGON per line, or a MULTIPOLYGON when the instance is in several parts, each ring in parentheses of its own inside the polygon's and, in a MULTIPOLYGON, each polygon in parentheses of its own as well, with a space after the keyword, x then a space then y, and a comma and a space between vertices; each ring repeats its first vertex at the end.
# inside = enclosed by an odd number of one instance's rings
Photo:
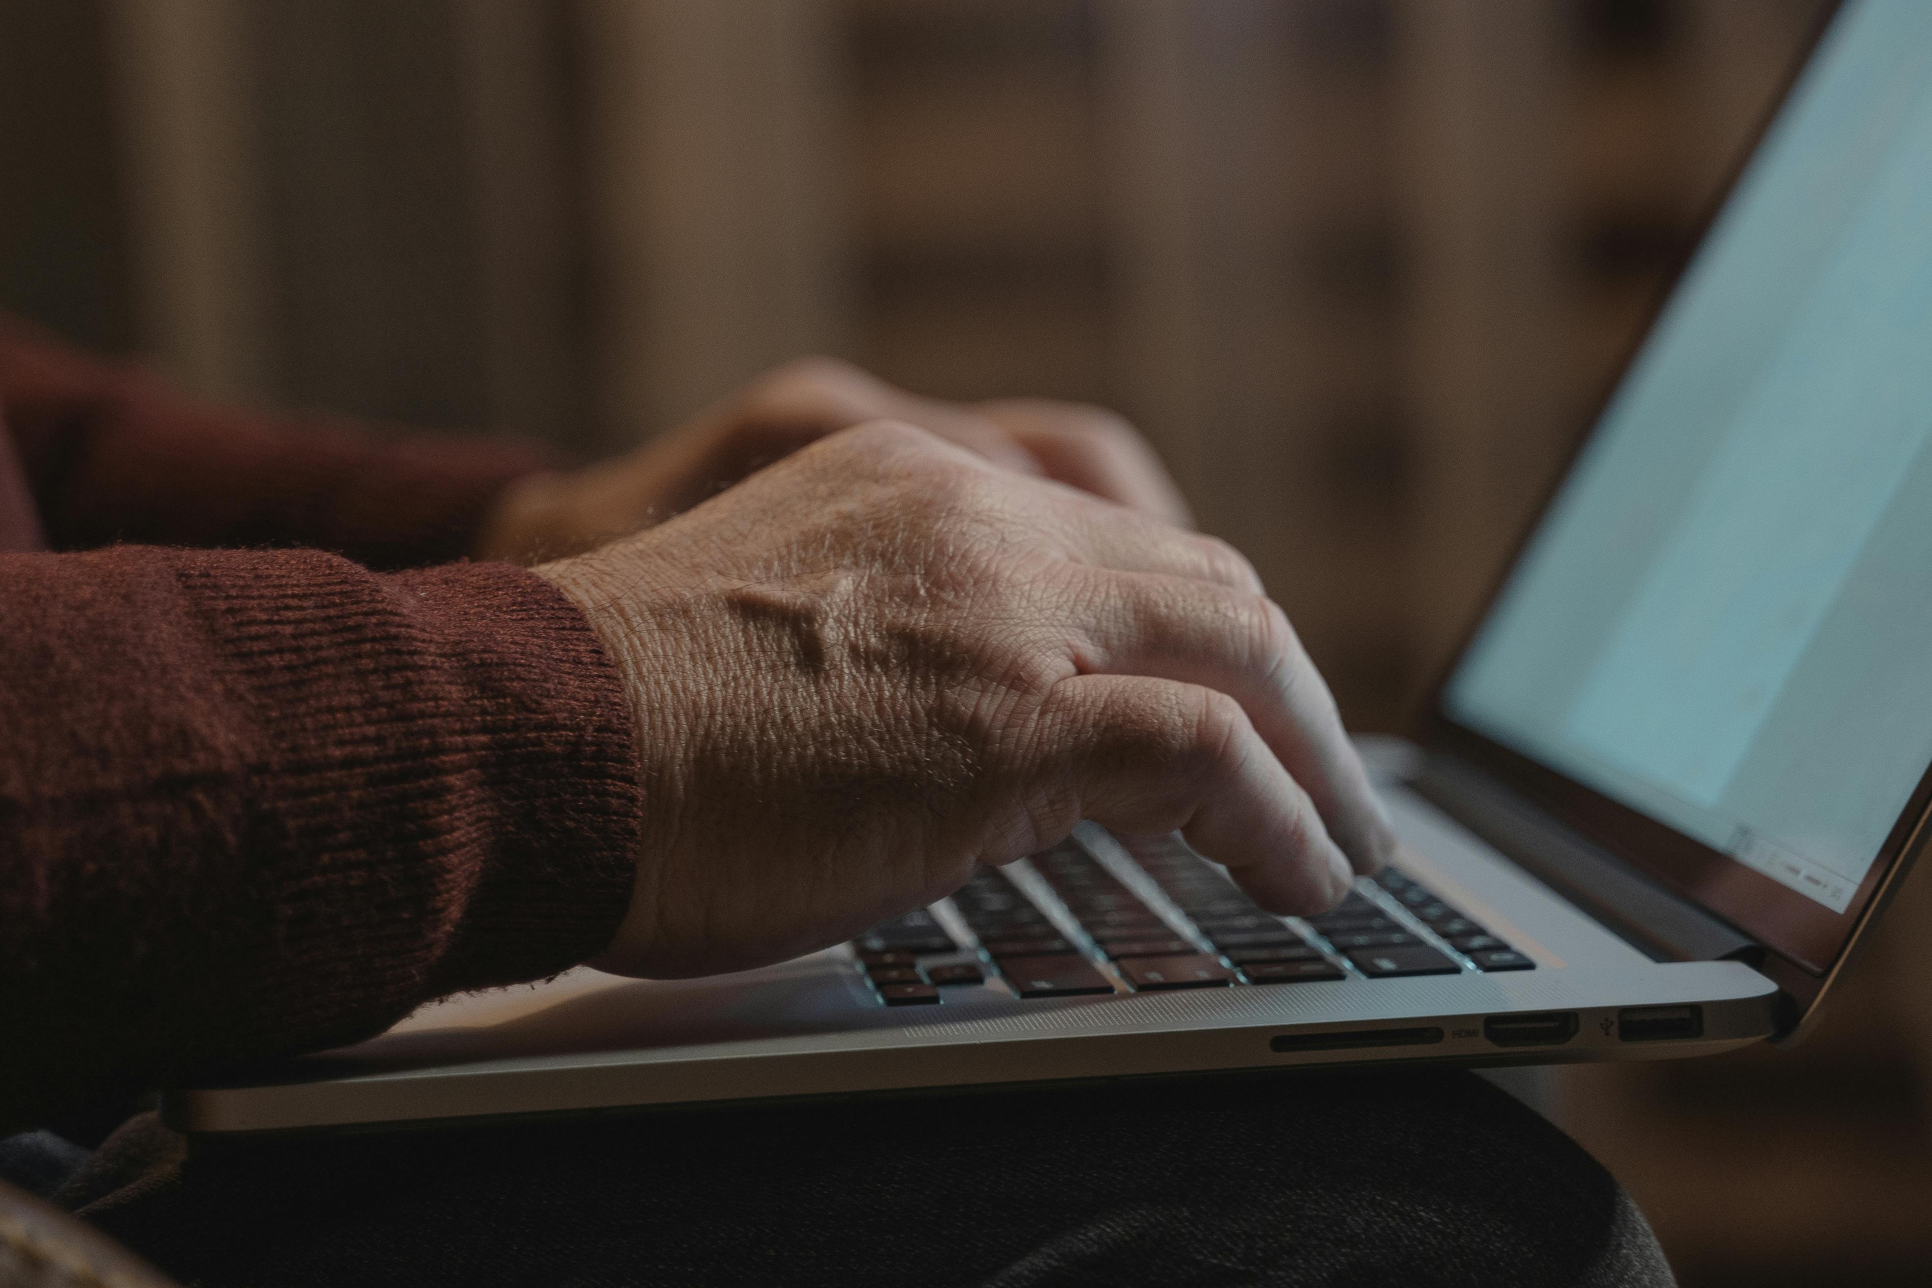
POLYGON ((593 956, 638 792, 595 633, 508 564, 0 556, 0 1134, 593 956))

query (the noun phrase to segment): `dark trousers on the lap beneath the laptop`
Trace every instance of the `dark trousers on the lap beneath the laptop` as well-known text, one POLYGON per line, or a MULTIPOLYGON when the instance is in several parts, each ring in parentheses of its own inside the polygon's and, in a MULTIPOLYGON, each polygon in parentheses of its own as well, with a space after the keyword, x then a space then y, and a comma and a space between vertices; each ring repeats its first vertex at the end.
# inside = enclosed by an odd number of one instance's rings
POLYGON ((1569 1137, 1463 1072, 645 1112, 189 1149, 60 1195, 185 1284, 1669 1284, 1569 1137))

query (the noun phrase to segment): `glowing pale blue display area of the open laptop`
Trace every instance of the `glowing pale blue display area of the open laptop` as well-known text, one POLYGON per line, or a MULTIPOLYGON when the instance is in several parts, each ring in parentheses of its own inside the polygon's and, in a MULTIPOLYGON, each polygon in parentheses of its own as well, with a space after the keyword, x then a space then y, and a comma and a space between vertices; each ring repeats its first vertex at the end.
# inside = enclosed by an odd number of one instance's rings
POLYGON ((1932 4, 1837 14, 1443 709, 1849 931, 1932 763, 1932 4))

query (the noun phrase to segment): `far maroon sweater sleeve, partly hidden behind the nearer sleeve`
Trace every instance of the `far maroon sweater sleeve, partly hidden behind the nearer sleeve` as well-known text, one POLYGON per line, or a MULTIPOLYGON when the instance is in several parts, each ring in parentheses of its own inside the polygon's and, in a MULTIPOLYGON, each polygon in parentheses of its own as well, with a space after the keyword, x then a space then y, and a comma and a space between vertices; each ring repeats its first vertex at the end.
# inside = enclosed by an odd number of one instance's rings
POLYGON ((469 554, 504 485, 554 463, 522 444, 199 404, 6 317, 0 390, 58 550, 305 546, 419 568, 469 554))

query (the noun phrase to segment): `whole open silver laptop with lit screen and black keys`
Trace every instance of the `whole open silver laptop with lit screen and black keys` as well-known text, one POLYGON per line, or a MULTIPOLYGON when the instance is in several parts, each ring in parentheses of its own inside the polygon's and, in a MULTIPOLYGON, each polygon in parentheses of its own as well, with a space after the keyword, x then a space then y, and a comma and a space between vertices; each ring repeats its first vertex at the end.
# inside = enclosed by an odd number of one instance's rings
POLYGON ((1791 1041, 1926 840, 1932 4, 1820 35, 1428 732, 1364 745, 1403 842, 1275 917, 1177 836, 1080 825, 808 958, 433 1002, 164 1093, 294 1132, 1393 1060, 1791 1041))

